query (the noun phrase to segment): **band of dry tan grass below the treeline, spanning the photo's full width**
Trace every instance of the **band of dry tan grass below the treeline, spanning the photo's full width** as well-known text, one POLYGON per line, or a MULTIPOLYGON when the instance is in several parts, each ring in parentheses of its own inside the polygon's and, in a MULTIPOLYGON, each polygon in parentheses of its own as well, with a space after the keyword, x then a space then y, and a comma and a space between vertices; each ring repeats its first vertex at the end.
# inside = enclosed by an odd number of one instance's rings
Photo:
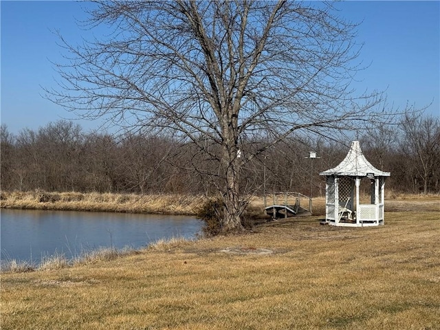
MULTIPOLYGON (((111 192, 0 192, 0 209, 119 212, 196 217, 210 197, 179 194, 118 194, 111 192)), ((395 195, 385 199, 386 212, 423 209, 440 211, 440 195, 395 195)), ((263 219, 263 197, 251 197, 248 217, 263 219)), ((314 215, 325 215, 325 197, 314 197, 314 215)))

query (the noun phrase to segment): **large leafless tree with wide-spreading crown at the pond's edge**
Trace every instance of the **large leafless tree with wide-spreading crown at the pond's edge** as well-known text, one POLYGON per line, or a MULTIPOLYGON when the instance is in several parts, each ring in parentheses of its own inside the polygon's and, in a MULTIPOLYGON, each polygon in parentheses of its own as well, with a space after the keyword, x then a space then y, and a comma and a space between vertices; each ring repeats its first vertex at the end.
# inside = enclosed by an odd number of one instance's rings
POLYGON ((240 230, 247 192, 239 183, 256 155, 294 131, 331 135, 384 114, 381 93, 350 89, 361 69, 353 65, 357 25, 334 9, 303 1, 94 1, 86 26, 105 25, 109 35, 82 45, 60 36, 66 61, 56 65, 60 88, 47 97, 83 117, 195 144, 219 164, 210 175, 223 197, 223 231, 240 230), (255 148, 253 140, 266 143, 255 148))

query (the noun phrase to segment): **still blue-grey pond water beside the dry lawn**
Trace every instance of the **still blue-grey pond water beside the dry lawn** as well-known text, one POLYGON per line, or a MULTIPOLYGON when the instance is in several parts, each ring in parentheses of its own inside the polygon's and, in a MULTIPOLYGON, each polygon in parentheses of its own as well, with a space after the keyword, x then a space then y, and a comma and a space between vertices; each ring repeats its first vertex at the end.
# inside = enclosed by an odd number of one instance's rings
POLYGON ((67 259, 98 248, 142 248, 173 236, 193 238, 201 228, 194 217, 72 212, 0 210, 1 260, 39 263, 45 256, 67 259))

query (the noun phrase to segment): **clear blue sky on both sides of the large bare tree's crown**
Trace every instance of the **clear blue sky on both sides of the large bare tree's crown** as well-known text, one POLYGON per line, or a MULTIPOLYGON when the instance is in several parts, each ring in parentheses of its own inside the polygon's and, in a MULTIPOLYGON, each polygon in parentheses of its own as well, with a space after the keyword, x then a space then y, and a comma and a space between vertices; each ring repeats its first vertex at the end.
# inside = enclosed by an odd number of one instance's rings
MULTIPOLYGON (((1 123, 12 133, 38 129, 72 113, 45 100, 41 86, 58 78, 51 61, 61 48, 51 30, 71 43, 85 32, 76 25, 85 18, 84 3, 74 1, 1 1, 1 123)), ((358 42, 364 43, 356 87, 387 89, 388 103, 403 109, 407 102, 440 115, 440 1, 347 1, 340 15, 363 21, 358 42)), ((78 121, 87 131, 100 122, 78 121)))

